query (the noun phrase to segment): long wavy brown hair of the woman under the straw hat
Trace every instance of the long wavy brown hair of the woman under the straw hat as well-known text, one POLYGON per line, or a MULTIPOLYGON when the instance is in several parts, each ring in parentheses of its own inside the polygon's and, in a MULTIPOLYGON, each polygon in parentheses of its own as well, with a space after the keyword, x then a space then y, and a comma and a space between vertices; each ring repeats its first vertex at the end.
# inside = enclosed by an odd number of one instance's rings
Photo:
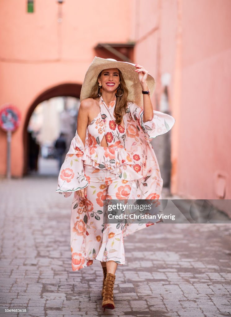
MULTIPOLYGON (((98 79, 101 76, 101 73, 102 72, 99 73, 97 81, 96 81, 95 85, 93 86, 91 94, 89 95, 88 98, 93 98, 93 99, 99 98, 99 95, 98 95, 98 90, 99 90, 98 79)), ((117 124, 121 124, 122 117, 126 113, 126 108, 128 106, 128 102, 131 101, 131 100, 128 100, 129 91, 128 91, 128 88, 126 87, 126 83, 125 83, 125 81, 123 79, 123 76, 122 76, 122 73, 121 73, 120 70, 119 70, 119 76, 120 76, 120 88, 123 89, 123 94, 122 94, 121 97, 117 97, 116 96, 116 107, 115 107, 114 112, 115 112, 115 119, 116 119, 116 123, 117 124)), ((122 91, 119 90, 118 94, 121 94, 121 92, 122 91)))

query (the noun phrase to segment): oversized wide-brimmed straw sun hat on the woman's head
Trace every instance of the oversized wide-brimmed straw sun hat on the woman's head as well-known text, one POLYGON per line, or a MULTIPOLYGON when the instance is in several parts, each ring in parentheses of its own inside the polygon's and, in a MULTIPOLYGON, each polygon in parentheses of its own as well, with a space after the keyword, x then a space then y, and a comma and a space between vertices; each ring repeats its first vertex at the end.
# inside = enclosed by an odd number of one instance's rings
MULTIPOLYGON (((103 69, 108 68, 118 68, 121 71, 129 91, 128 99, 135 102, 135 104, 137 104, 138 106, 143 107, 142 88, 138 79, 138 73, 134 71, 135 69, 137 69, 135 67, 135 64, 124 61, 116 61, 111 58, 100 58, 97 56, 95 56, 86 72, 82 84, 80 101, 89 98, 91 90, 97 81, 99 73, 103 69)), ((151 97, 155 89, 155 79, 150 74, 148 74, 147 85, 149 87, 151 97)))

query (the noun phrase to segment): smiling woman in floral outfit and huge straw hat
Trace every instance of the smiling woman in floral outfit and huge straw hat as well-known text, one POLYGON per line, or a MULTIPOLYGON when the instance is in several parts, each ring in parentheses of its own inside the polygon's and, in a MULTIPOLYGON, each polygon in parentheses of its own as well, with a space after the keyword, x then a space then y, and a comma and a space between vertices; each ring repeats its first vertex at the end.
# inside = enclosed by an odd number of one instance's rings
POLYGON ((153 110, 154 89, 154 78, 142 66, 95 57, 82 85, 76 136, 59 173, 57 192, 74 192, 72 270, 101 261, 104 308, 115 308, 123 237, 160 222, 123 225, 103 218, 106 200, 161 198, 163 181, 149 139, 168 132, 175 119, 153 110))

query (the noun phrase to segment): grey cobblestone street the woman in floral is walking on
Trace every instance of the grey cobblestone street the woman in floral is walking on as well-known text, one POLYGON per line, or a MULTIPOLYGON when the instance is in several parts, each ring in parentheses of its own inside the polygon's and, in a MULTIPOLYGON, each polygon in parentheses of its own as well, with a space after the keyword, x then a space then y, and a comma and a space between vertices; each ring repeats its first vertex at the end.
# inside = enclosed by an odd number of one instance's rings
POLYGON ((56 177, 1 180, 2 316, 231 316, 230 224, 158 223, 125 237, 116 308, 104 312, 100 262, 72 271, 72 196, 56 186, 56 177))

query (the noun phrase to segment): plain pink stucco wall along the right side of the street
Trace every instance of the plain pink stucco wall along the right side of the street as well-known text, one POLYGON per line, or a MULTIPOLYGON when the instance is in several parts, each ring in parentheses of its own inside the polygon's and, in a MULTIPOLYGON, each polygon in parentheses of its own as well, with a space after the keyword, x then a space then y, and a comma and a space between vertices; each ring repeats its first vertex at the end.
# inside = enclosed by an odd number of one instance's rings
POLYGON ((135 59, 156 78, 154 103, 171 74, 172 193, 230 199, 231 2, 136 1, 134 12, 135 59))

